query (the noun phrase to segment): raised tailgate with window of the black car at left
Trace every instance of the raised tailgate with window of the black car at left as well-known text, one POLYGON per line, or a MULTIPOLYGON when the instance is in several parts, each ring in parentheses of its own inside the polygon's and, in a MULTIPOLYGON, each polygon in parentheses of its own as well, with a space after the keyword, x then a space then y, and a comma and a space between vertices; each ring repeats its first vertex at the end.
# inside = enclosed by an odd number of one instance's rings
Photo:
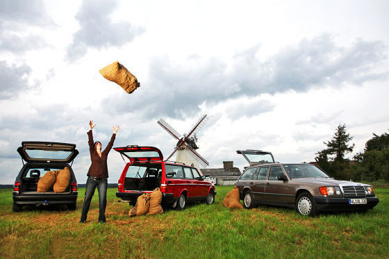
POLYGON ((76 144, 24 141, 17 152, 26 162, 72 162, 78 155, 76 144))

